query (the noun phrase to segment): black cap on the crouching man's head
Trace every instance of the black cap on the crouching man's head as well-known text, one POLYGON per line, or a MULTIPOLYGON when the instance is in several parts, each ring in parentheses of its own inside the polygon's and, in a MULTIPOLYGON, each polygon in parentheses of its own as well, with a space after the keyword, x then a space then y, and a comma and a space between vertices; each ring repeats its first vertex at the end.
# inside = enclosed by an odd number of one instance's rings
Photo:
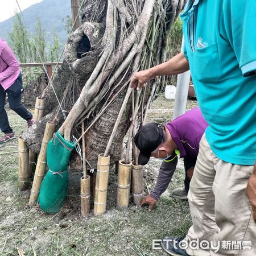
POLYGON ((139 164, 143 166, 150 159, 151 152, 154 151, 162 142, 163 130, 158 123, 147 123, 139 129, 134 137, 135 145, 139 148, 139 164))

